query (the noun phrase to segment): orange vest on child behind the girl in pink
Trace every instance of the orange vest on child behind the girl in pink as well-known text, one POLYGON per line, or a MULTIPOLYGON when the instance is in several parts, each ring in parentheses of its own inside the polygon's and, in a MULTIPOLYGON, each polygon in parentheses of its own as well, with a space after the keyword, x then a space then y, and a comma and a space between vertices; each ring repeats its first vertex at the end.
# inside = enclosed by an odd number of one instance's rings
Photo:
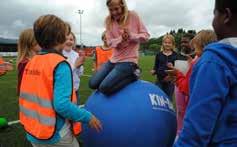
POLYGON ((96 47, 96 70, 99 70, 101 65, 106 63, 111 55, 112 55, 112 49, 106 49, 104 50, 102 47, 96 47))

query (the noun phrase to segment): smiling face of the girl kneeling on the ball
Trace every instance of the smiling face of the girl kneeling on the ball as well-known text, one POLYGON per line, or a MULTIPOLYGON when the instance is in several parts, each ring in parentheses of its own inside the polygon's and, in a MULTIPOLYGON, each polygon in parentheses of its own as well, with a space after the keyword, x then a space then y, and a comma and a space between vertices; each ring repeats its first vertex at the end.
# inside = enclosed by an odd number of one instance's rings
POLYGON ((112 0, 111 4, 108 6, 109 13, 115 21, 119 21, 123 16, 123 8, 121 5, 121 0, 112 0))

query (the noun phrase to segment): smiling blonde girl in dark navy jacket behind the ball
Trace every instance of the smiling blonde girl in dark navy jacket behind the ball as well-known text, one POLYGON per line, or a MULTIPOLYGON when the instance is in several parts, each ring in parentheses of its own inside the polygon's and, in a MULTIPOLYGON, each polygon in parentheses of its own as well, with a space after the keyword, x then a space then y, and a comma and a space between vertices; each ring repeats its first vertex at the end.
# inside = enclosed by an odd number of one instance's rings
POLYGON ((174 50, 174 36, 171 34, 164 35, 162 39, 161 51, 156 55, 155 64, 153 70, 151 70, 152 75, 157 75, 156 84, 167 94, 171 100, 174 92, 174 84, 168 81, 168 74, 165 71, 169 69, 167 64, 174 65, 174 62, 177 59, 177 53, 174 50))

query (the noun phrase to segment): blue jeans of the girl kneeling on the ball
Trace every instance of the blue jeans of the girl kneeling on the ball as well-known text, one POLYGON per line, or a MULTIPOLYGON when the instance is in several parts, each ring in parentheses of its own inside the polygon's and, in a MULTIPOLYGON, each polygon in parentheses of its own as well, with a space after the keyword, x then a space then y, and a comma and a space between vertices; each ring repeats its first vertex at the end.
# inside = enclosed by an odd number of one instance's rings
POLYGON ((90 79, 89 87, 111 95, 136 81, 138 79, 135 74, 137 69, 137 64, 132 62, 111 63, 108 61, 90 79))

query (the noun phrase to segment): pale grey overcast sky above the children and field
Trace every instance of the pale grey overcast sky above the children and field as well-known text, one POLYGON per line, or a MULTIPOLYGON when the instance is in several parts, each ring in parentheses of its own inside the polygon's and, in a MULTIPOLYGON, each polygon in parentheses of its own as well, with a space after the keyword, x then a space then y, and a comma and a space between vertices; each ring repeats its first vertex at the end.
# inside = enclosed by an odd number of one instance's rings
MULTIPOLYGON (((158 37, 171 29, 211 29, 215 0, 127 0, 128 8, 135 10, 151 37, 158 37)), ((106 0, 1 0, 0 37, 17 38, 40 16, 55 14, 72 25, 78 43, 82 14, 82 42, 101 44, 104 18, 108 15, 106 0)))

